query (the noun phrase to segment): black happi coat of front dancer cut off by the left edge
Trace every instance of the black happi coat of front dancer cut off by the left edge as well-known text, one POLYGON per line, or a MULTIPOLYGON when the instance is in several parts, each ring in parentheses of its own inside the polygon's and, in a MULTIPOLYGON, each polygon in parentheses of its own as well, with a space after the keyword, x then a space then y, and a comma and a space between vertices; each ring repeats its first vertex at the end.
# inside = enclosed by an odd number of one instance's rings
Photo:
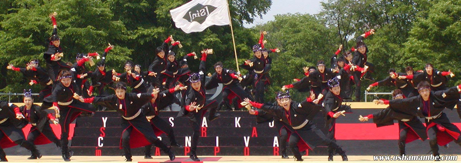
POLYGON ((4 136, 0 140, 1 148, 9 148, 18 144, 14 143, 17 140, 24 139, 24 132, 21 125, 21 121, 16 119, 14 108, 18 106, 0 100, 0 132, 3 132, 4 136))

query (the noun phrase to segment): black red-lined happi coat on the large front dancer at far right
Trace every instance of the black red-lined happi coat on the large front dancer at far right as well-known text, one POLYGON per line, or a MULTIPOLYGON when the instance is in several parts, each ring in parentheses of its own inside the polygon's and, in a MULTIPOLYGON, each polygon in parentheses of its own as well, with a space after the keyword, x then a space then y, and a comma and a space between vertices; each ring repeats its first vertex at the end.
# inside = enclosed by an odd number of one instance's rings
POLYGON ((420 117, 436 117, 434 119, 426 119, 426 131, 435 125, 440 125, 445 128, 445 132, 437 133, 437 143, 443 146, 453 139, 458 139, 461 131, 453 123, 451 123, 448 117, 443 113, 443 109, 453 109, 460 99, 458 86, 451 87, 442 91, 431 91, 428 102, 425 102, 421 95, 414 96, 408 99, 393 99, 389 100, 389 106, 395 111, 400 111, 409 115, 420 116, 420 117), (429 111, 425 113, 423 110, 426 107, 429 111))

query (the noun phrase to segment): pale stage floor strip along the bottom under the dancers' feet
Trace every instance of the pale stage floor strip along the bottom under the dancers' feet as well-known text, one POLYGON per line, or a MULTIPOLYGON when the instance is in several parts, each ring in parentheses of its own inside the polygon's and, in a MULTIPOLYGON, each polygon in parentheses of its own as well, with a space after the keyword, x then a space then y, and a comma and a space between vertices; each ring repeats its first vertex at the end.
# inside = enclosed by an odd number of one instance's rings
MULTIPOLYGON (((37 160, 28 160, 29 156, 7 156, 9 162, 35 162, 35 163, 54 163, 54 162, 64 162, 61 156, 43 156, 41 159, 37 160)), ((291 156, 293 157, 293 156, 291 156)), ((458 155, 461 159, 461 155, 458 155)), ((212 163, 212 162, 225 162, 225 163, 234 163, 234 162, 246 162, 246 163, 293 163, 295 158, 282 159, 280 156, 200 156, 201 162, 203 163, 212 163)), ((349 162, 375 162, 373 161, 373 156, 348 156, 349 162)), ((327 161, 327 156, 303 156, 304 161, 327 161)), ((341 161, 341 156, 335 156, 335 161, 341 161)), ((167 156, 155 156, 154 159, 144 159, 143 156, 133 156, 133 162, 138 163, 163 163, 163 162, 183 162, 183 163, 194 163, 192 160, 186 156, 176 157, 174 161, 170 161, 167 156)), ((124 157, 122 156, 73 156, 71 162, 87 162, 87 163, 99 163, 99 162, 124 162, 124 157)), ((393 161, 393 162, 408 162, 408 161, 393 161)), ((432 161, 419 161, 420 163, 431 163, 432 161)), ((200 163, 200 162, 197 162, 200 163)))

